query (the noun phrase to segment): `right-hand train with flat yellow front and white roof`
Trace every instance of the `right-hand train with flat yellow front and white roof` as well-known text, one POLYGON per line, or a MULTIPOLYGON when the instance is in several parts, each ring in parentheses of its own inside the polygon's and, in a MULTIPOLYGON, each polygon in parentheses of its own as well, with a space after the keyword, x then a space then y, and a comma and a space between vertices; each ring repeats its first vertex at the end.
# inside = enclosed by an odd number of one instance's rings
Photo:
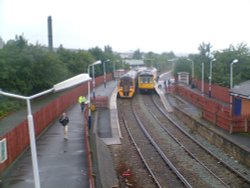
POLYGON ((138 74, 138 90, 140 93, 152 93, 155 91, 157 69, 148 67, 138 74))

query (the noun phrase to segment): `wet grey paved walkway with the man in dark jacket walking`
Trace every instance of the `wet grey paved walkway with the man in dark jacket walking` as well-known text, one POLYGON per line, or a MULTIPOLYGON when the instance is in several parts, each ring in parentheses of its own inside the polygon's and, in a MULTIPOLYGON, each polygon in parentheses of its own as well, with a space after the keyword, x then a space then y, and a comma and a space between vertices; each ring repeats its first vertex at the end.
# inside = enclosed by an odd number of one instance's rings
MULTIPOLYGON (((79 105, 66 111, 70 118, 69 140, 56 120, 37 140, 41 188, 89 187, 84 145, 84 117, 79 105)), ((3 175, 1 188, 34 188, 30 150, 3 175)))

